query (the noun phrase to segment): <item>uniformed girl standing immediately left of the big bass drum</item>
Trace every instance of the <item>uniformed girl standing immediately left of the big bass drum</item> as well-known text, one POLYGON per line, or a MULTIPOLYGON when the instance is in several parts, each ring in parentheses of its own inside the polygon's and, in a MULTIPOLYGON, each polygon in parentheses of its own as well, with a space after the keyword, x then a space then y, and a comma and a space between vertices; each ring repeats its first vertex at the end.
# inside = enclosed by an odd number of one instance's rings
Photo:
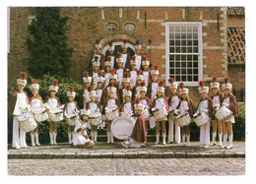
MULTIPOLYGON (((114 92, 116 92, 116 88, 114 88, 114 84, 113 82, 110 82, 109 87, 107 88, 107 97, 105 98, 105 101, 104 101, 104 105, 103 105, 103 114, 105 115, 105 108, 111 108, 111 109, 114 109, 114 110, 118 110, 119 111, 119 108, 120 108, 120 105, 119 105, 119 100, 118 98, 116 98, 114 96, 114 92)), ((111 125, 111 120, 108 120, 107 119, 107 143, 109 144, 110 142, 111 143, 114 143, 114 137, 113 137, 113 134, 110 132, 110 125, 111 125), (110 139, 111 138, 111 139, 110 139)))

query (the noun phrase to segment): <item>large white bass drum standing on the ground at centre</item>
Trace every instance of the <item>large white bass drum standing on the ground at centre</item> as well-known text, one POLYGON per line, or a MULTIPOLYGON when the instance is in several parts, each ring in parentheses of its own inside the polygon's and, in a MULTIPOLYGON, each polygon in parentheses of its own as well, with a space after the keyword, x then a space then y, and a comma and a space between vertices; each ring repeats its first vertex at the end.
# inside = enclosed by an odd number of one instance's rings
POLYGON ((135 119, 127 116, 115 118, 111 123, 111 132, 119 140, 128 139, 133 132, 135 119))

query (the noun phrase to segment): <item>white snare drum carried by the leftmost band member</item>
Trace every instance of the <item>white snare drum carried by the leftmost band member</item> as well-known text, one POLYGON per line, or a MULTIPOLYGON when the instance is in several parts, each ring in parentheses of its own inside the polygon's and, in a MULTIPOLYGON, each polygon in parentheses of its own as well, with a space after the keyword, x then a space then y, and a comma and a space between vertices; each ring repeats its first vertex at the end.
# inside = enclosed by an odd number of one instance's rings
POLYGON ((26 132, 32 132, 36 128, 37 124, 33 119, 32 113, 23 113, 18 117, 21 127, 26 132))

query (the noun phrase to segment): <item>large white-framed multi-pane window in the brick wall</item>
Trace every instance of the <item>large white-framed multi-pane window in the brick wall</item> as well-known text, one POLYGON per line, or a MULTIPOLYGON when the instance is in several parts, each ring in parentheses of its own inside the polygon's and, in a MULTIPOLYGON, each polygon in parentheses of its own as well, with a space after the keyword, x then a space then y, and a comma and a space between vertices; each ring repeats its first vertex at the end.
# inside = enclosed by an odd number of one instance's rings
POLYGON ((203 79, 202 24, 166 23, 166 80, 186 86, 203 79))

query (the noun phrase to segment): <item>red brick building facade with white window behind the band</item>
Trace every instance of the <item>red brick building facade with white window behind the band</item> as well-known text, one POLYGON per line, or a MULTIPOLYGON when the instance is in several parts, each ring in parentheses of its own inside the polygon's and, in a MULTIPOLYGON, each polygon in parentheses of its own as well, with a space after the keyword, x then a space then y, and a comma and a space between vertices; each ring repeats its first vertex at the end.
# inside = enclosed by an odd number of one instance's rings
MULTIPOLYGON (((10 8, 9 12, 10 88, 16 85, 20 71, 27 69, 25 41, 34 15, 32 8, 10 8)), ((245 89, 242 7, 76 7, 61 8, 61 13, 69 17, 69 45, 74 48, 72 76, 81 83, 96 39, 103 53, 108 41, 118 47, 125 39, 131 52, 136 40, 140 40, 152 64, 160 65, 160 78, 166 84, 170 76, 185 82, 192 97, 198 94, 199 80, 210 82, 215 75, 221 82, 229 76, 235 91, 245 89)))

